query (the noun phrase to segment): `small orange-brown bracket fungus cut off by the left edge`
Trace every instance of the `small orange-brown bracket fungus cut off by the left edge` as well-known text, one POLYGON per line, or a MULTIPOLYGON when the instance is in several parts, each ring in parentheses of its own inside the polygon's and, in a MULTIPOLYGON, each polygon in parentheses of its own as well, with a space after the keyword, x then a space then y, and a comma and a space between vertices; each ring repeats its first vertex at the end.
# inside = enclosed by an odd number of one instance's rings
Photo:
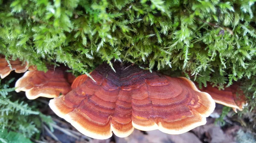
POLYGON ((12 61, 10 60, 10 65, 6 61, 5 56, 0 55, 0 77, 1 79, 8 76, 12 70, 15 70, 16 73, 24 73, 28 70, 28 63, 21 62, 20 60, 12 61))

